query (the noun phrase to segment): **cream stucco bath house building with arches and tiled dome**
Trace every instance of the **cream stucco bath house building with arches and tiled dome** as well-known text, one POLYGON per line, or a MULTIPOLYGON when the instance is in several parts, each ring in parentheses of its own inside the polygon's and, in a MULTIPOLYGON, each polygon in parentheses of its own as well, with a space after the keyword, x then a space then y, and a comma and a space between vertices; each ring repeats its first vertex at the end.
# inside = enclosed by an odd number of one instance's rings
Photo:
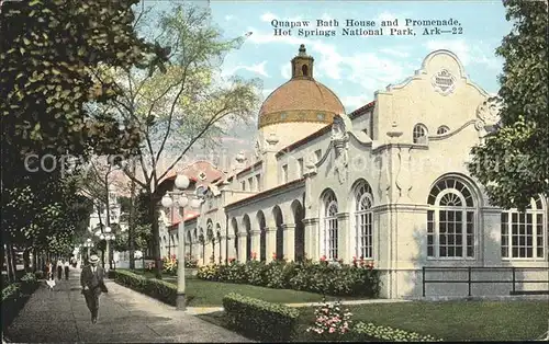
POLYGON ((349 114, 303 45, 291 64, 259 112, 256 160, 211 183, 186 252, 201 263, 365 259, 388 298, 549 290, 547 199, 502 210, 469 174, 501 104, 455 54, 433 51, 349 114), (508 283, 424 284, 471 278, 508 283))

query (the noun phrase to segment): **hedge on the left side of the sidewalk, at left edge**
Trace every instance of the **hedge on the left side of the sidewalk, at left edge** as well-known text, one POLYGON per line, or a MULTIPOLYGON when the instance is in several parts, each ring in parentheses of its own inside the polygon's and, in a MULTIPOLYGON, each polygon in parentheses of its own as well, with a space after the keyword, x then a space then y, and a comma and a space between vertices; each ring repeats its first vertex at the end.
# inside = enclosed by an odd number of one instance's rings
POLYGON ((2 329, 11 324, 38 286, 35 274, 27 273, 20 282, 2 288, 2 329))

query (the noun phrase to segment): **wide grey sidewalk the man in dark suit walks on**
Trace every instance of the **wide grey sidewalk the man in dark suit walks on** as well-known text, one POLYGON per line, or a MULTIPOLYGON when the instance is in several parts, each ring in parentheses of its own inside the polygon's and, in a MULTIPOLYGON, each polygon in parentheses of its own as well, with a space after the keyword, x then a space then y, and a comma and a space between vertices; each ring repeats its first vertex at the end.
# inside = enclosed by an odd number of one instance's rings
POLYGON ((250 343, 223 328, 105 280, 97 324, 80 294, 80 270, 53 291, 34 293, 4 339, 16 343, 250 343))

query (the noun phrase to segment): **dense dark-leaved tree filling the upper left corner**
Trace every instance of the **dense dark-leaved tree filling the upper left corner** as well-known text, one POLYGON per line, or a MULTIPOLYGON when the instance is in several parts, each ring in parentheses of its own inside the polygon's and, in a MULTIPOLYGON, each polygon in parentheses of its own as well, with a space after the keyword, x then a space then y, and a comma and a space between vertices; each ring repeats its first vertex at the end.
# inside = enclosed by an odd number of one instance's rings
POLYGON ((139 38, 132 5, 138 0, 23 0, 2 4, 0 13, 1 195, 3 238, 61 250, 74 229, 60 186, 63 154, 120 153, 139 142, 138 130, 121 126, 93 104, 116 96, 96 83, 90 70, 108 65, 141 68, 161 65, 157 49, 139 38), (90 110, 91 108, 91 110, 90 110), (30 153, 53 154, 48 174, 30 153), (31 169, 38 167, 37 171, 31 169), (56 190, 57 198, 45 191, 56 190), (20 211, 24 208, 24 211, 20 211), (24 213, 24 214, 19 214, 24 213), (5 220, 4 220, 5 219, 5 220), (5 234, 4 234, 5 233, 5 234), (68 236, 69 237, 69 236, 68 236), (32 240, 31 240, 32 239, 32 240), (33 241, 34 240, 34 241, 33 241))

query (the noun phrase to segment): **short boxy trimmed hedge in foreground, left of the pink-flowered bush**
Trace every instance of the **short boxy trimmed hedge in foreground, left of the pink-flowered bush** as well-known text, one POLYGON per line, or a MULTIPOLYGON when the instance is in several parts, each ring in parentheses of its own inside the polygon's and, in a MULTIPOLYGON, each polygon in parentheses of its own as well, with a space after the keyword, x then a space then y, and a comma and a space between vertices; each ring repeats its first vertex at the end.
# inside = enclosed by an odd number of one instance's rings
POLYGON ((223 308, 231 326, 262 341, 289 341, 295 333, 300 317, 300 312, 294 308, 235 293, 223 298, 223 308))

